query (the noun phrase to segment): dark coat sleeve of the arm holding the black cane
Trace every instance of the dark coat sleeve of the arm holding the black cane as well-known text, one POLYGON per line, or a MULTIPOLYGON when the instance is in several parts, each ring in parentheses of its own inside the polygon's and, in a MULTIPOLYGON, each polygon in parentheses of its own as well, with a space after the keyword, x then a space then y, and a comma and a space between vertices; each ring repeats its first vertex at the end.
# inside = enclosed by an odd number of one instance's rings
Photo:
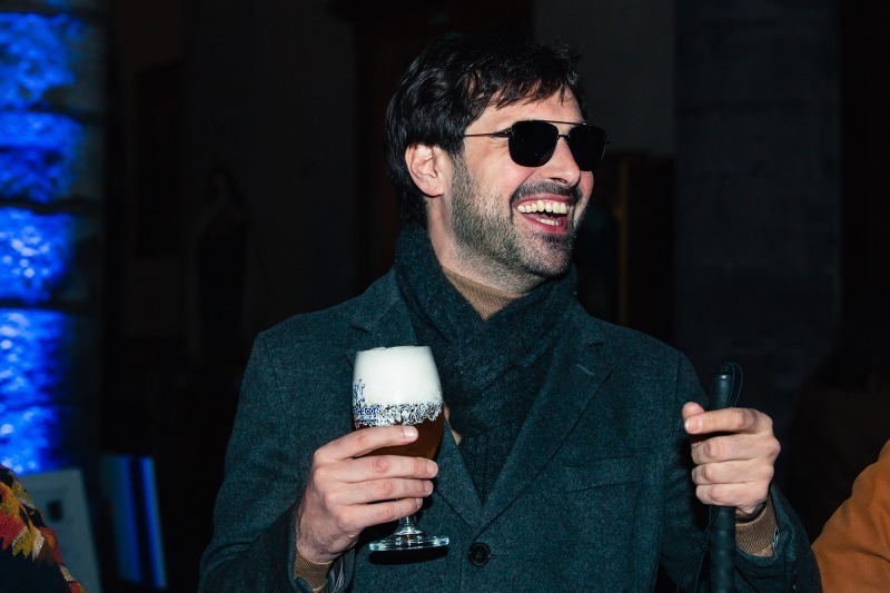
MULTIPOLYGON (((695 399, 706 406, 706 396, 695 376, 692 365, 684 357, 678 373, 676 417, 680 408, 688 401, 695 399)), ((675 471, 669 473, 665 498, 666 533, 662 544, 662 561, 665 570, 680 582, 682 590, 694 590, 706 579, 708 557, 704 554, 706 541, 703 535, 706 516, 705 505, 695 497, 690 471, 692 462, 689 456, 689 439, 682 432, 682 422, 678 419, 678 442, 682 454, 676 459, 675 471), (682 542, 676 541, 681 538, 682 542), (698 553, 690 553, 690 538, 699 543, 698 553), (683 554, 682 557, 679 554, 683 554), (699 574, 700 561, 704 572, 699 574)), ((819 570, 810 550, 809 540, 794 512, 773 485, 770 488, 773 510, 777 517, 777 535, 774 554, 770 557, 752 556, 736 545, 734 589, 739 592, 787 592, 820 591, 819 570)))

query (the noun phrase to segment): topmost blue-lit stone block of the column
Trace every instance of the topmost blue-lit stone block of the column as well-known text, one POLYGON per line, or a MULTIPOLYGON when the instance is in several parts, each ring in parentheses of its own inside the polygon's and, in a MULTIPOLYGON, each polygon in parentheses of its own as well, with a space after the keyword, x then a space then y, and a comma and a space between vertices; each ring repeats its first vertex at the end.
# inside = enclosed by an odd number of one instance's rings
POLYGON ((0 107, 24 109, 73 85, 83 22, 67 14, 0 13, 0 107))

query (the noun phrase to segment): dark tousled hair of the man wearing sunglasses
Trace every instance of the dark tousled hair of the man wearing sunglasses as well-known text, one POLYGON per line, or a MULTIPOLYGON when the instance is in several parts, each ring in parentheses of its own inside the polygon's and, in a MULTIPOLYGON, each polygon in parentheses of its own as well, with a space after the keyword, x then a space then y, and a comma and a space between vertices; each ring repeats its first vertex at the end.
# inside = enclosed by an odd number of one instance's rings
POLYGON ((490 106, 503 108, 570 91, 586 120, 577 56, 514 32, 448 33, 412 62, 386 110, 386 161, 404 221, 426 226, 424 196, 405 164, 423 144, 448 155, 463 151, 463 135, 490 106))

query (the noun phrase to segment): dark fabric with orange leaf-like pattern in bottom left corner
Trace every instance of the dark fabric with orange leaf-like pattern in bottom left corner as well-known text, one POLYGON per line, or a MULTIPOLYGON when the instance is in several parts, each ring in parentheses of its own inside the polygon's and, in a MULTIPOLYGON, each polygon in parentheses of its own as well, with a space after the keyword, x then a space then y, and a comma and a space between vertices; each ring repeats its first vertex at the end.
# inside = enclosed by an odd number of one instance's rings
MULTIPOLYGON (((85 593, 65 566, 56 533, 43 522, 16 475, 0 466, 0 573, 23 581, 22 590, 58 583, 59 591, 85 593)), ((14 582, 14 581, 13 581, 14 582)))

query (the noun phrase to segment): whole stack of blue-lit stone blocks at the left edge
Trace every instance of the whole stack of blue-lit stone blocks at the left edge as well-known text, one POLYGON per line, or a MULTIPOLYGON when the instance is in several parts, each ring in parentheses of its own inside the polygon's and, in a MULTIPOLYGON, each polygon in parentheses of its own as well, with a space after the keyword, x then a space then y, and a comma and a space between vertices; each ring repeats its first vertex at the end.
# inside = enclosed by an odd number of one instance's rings
POLYGON ((85 22, 37 12, 0 12, 0 463, 20 474, 68 463, 77 318, 53 309, 72 274, 80 224, 56 205, 83 187, 78 113, 90 105, 72 97, 100 82, 77 70, 85 22))

